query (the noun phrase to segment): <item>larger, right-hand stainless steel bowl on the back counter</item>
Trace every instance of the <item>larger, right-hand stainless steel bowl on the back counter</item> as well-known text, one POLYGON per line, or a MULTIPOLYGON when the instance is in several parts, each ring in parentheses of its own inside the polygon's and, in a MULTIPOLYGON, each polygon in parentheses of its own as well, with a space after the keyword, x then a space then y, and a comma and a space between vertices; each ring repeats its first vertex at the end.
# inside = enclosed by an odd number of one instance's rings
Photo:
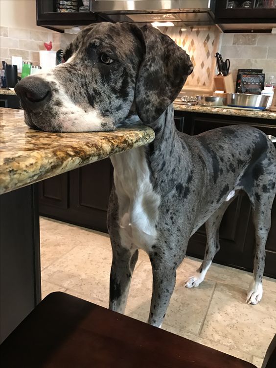
POLYGON ((264 110, 269 100, 269 96, 250 95, 246 93, 228 93, 226 98, 227 106, 258 110, 264 110))

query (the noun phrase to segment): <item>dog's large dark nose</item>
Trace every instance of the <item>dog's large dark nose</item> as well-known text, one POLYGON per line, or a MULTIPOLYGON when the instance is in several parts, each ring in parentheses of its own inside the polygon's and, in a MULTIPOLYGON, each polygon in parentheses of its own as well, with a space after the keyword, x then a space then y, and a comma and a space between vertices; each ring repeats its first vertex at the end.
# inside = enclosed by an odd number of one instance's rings
POLYGON ((22 107, 27 106, 31 110, 41 108, 51 98, 49 85, 35 75, 22 79, 14 90, 23 104, 22 107))

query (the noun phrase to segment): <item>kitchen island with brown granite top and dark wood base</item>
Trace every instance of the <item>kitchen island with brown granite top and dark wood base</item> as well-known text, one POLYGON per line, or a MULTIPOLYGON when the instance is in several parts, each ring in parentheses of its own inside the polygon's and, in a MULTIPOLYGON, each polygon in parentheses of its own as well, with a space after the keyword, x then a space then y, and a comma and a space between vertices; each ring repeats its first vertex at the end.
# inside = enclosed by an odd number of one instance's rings
MULTIPOLYGON (((47 133, 0 109, 0 342, 41 300, 37 182, 154 140, 146 126, 47 133)), ((102 177, 94 177, 101 182, 102 177)))

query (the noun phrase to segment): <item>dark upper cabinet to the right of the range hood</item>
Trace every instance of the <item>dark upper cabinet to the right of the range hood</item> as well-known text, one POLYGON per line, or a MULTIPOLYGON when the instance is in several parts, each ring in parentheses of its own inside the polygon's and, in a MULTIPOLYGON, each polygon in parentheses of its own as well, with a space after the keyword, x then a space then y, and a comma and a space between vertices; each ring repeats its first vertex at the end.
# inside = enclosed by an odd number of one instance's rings
POLYGON ((271 30, 276 27, 276 0, 217 0, 215 23, 222 30, 271 30))

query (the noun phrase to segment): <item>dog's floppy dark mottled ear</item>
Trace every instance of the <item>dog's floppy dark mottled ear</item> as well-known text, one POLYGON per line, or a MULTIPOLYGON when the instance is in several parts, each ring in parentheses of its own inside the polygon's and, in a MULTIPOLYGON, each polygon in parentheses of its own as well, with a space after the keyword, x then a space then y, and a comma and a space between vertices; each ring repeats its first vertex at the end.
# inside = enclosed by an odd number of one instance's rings
POLYGON ((155 122, 180 93, 193 65, 186 52, 158 29, 132 25, 144 48, 136 83, 136 110, 140 120, 155 122))

